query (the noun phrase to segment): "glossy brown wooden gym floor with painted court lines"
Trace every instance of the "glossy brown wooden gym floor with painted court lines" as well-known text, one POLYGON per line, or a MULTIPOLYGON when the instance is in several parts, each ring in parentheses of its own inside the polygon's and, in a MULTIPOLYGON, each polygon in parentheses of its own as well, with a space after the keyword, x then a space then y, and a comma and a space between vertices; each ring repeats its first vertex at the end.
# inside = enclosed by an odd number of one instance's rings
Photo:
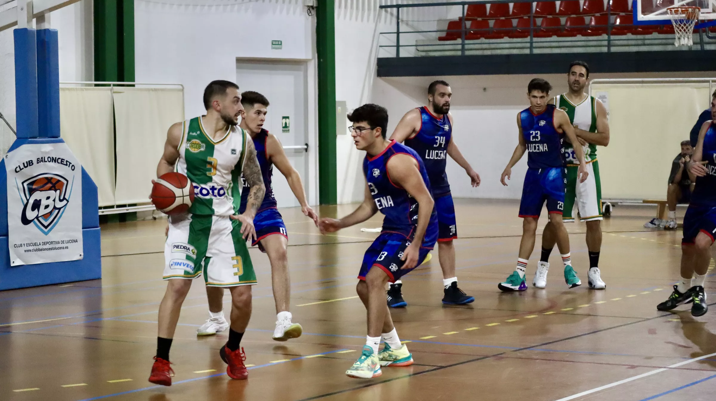
MULTIPOLYGON (((643 228, 652 207, 617 206, 603 222, 606 290, 586 286, 584 224, 573 223, 571 252, 582 286, 567 289, 555 250, 546 289, 500 294, 498 282, 516 263, 517 203, 457 203, 458 278, 475 303, 442 306, 437 257, 407 275, 409 306, 392 316, 415 359, 410 367, 384 368, 374 380, 344 375, 364 344, 355 276, 377 234, 355 227, 321 236, 299 209, 289 208, 281 213, 291 243, 291 309, 304 335, 271 340, 269 261, 252 249, 259 283, 242 342, 252 365, 248 381, 226 376, 218 356, 226 333, 195 336, 207 315, 197 280, 171 352, 174 385, 147 382, 165 289, 165 221, 115 223, 102 228, 101 281, 0 293, 0 400, 715 399, 716 355, 694 359, 716 352, 716 311, 696 319, 684 306, 673 314, 656 310, 679 277, 681 232, 643 228)), ((343 216, 352 207, 321 213, 343 216)), ((379 221, 376 216, 362 227, 379 221)), ((539 245, 528 265, 529 284, 538 257, 539 245)), ((707 292, 712 288, 710 277, 707 292)))

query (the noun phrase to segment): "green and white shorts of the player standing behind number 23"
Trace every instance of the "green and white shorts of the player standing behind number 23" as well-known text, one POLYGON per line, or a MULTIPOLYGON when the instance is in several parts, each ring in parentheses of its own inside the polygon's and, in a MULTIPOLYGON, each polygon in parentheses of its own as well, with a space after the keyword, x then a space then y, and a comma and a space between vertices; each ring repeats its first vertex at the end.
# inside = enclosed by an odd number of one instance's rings
POLYGON ((589 177, 584 183, 577 180, 579 165, 567 165, 567 178, 565 181, 564 211, 562 221, 574 221, 572 209, 574 200, 577 202, 579 219, 581 221, 603 220, 601 216, 601 181, 599 180, 599 162, 594 160, 586 164, 589 177))

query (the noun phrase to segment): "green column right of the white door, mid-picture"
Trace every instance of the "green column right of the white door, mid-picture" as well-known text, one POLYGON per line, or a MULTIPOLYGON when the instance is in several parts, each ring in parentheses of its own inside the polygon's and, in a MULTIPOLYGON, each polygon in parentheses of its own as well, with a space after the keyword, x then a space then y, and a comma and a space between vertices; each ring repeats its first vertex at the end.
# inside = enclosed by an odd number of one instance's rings
POLYGON ((316 7, 318 57, 318 171, 319 203, 338 200, 336 178, 336 33, 334 0, 319 0, 316 7))

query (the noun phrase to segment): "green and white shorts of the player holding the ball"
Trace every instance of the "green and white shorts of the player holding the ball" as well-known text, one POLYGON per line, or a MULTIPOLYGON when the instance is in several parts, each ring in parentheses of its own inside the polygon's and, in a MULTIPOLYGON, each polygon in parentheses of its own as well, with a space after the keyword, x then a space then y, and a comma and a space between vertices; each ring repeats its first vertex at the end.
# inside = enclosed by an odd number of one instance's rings
POLYGON ((241 223, 228 216, 170 216, 164 279, 196 279, 207 286, 256 284, 241 223))

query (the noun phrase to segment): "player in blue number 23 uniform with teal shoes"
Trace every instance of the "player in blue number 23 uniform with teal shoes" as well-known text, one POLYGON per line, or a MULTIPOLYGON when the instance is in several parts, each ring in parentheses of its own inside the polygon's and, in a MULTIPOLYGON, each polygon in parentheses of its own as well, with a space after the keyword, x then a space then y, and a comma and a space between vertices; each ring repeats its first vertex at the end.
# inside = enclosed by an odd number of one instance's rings
MULTIPOLYGON (((510 179, 513 165, 522 158, 526 151, 529 152, 527 155, 528 170, 520 203, 519 216, 524 219, 520 253, 516 270, 508 276, 507 280, 498 284, 498 288, 502 291, 524 291, 527 289, 525 270, 535 246, 537 219, 542 212, 545 200, 547 201, 549 221, 552 223, 557 247, 564 262, 564 281, 569 288, 581 285, 579 277, 571 266, 569 235, 562 222, 566 176, 561 150, 564 141, 562 135, 566 135, 567 140, 571 142, 578 143, 578 141, 567 113, 557 109, 555 105, 547 104, 547 97, 551 89, 552 85, 540 78, 532 79, 528 84, 527 96, 530 100, 530 107, 517 115, 519 143, 500 178, 502 185, 507 185, 505 177, 510 179)), ((576 146, 574 153, 580 162, 577 168, 577 177, 580 183, 584 183, 589 175, 584 163, 584 151, 580 146, 576 146)))

